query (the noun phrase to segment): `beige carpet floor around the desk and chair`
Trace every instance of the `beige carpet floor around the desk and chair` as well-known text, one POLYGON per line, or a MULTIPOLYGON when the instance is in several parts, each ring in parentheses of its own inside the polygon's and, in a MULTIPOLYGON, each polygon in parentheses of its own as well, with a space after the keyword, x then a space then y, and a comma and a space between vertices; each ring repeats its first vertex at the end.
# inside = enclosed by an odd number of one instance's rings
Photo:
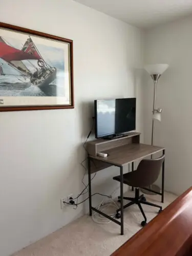
MULTIPOLYGON (((129 196, 133 196, 130 191, 129 196)), ((150 202, 161 204, 160 196, 147 196, 150 202)), ((163 208, 176 199, 165 193, 163 208)), ((157 215, 157 208, 143 205, 147 220, 157 215)), ((57 230, 44 239, 14 253, 12 256, 109 256, 140 228, 143 220, 137 205, 124 211, 124 235, 120 236, 120 226, 111 222, 97 224, 89 216, 83 216, 69 225, 57 230)))

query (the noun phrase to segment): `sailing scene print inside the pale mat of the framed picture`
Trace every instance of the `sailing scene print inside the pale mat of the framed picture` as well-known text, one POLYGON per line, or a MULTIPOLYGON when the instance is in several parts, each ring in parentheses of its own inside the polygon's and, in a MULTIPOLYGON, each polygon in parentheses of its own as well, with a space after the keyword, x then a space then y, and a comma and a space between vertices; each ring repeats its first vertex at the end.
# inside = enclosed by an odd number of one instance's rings
POLYGON ((0 97, 65 96, 65 52, 43 42, 0 33, 0 97))

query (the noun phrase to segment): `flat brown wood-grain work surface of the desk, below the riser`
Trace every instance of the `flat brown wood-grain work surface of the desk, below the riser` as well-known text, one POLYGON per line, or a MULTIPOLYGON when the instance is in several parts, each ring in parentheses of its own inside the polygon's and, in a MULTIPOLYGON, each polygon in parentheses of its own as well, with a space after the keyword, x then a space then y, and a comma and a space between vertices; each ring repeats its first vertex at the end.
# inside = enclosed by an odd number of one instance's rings
POLYGON ((125 164, 134 162, 141 158, 158 153, 164 149, 165 149, 164 147, 160 147, 160 146, 152 146, 152 145, 141 144, 141 143, 132 143, 132 144, 126 144, 123 146, 111 148, 110 150, 103 151, 103 153, 109 154, 108 157, 98 157, 98 156, 95 157, 91 155, 90 157, 106 163, 111 163, 116 166, 123 166, 125 164))

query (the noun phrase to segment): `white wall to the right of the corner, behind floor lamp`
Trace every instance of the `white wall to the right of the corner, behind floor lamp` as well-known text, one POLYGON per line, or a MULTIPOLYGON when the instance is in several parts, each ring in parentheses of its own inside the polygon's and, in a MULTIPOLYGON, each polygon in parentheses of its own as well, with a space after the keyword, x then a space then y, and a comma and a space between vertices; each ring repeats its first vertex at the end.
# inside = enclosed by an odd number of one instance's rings
MULTIPOLYGON (((192 183, 192 16, 148 30, 145 34, 145 63, 168 63, 157 89, 157 107, 163 109, 156 123, 155 144, 166 147, 165 188, 181 194, 192 183)), ((145 84, 144 137, 150 142, 153 81, 145 84)))

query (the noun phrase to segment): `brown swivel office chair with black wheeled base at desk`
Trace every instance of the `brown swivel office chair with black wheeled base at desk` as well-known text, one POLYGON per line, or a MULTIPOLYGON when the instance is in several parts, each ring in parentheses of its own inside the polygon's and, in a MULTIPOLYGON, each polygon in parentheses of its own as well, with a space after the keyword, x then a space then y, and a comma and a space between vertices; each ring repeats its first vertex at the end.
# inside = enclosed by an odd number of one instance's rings
MULTIPOLYGON (((141 226, 145 226, 147 223, 147 219, 141 204, 158 207, 160 208, 159 213, 162 211, 162 206, 147 202, 146 198, 143 195, 139 196, 139 188, 150 186, 157 180, 164 158, 165 155, 162 155, 157 159, 143 159, 139 163, 137 170, 135 170, 134 172, 123 174, 123 183, 135 187, 135 198, 123 197, 123 199, 131 201, 130 203, 124 205, 123 209, 133 204, 137 204, 144 217, 144 221, 141 222, 141 226)), ((120 176, 113 177, 113 179, 120 182, 120 176)), ((120 197, 118 197, 118 199, 120 201, 120 197)), ((120 208, 117 210, 117 219, 121 217, 119 213, 120 210, 120 208)))

